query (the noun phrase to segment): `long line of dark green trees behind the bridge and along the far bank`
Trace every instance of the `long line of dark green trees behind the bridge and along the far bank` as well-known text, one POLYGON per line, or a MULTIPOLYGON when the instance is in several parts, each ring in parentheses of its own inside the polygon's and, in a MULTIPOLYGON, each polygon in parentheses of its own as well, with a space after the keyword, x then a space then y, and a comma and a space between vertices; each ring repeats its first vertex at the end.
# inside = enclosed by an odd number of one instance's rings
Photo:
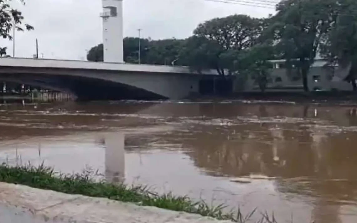
MULTIPOLYGON (((282 0, 276 14, 257 19, 247 15, 215 18, 199 24, 185 40, 141 39, 142 63, 187 65, 200 72, 215 69, 221 76, 254 76, 265 90, 270 59, 286 59, 297 68, 305 91, 307 75, 317 55, 348 68, 345 81, 354 90, 357 75, 357 1, 282 0)), ((102 61, 102 45, 89 61, 102 61)), ((137 63, 138 39, 124 40, 124 61, 137 63)))

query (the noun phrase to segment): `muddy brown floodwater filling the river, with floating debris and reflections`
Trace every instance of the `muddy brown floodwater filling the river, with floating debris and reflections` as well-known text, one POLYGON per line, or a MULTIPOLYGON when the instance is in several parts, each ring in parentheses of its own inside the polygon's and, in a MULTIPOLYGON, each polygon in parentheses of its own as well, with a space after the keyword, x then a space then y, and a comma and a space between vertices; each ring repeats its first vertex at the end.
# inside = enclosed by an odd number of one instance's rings
POLYGON ((355 223, 356 108, 349 102, 7 101, 0 104, 0 161, 44 162, 66 173, 91 168, 109 181, 239 206, 243 213, 257 207, 274 212, 279 223, 355 223))

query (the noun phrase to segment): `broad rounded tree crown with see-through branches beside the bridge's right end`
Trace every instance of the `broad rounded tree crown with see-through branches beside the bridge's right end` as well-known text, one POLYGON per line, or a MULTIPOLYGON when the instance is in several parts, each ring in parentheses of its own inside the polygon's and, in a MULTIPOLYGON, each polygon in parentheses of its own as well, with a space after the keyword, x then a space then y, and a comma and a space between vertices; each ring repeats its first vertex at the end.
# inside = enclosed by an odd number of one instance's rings
POLYGON ((247 15, 206 21, 193 31, 183 54, 189 56, 188 65, 197 71, 215 69, 221 76, 231 74, 234 56, 258 42, 263 25, 263 20, 247 15))

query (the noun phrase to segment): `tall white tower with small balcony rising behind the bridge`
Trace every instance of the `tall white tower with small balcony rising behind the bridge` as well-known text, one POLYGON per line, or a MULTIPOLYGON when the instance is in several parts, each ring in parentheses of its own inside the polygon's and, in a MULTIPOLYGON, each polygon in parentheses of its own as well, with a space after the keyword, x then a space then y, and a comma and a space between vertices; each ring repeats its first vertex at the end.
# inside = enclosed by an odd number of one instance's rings
POLYGON ((104 62, 123 63, 123 1, 102 0, 104 62))

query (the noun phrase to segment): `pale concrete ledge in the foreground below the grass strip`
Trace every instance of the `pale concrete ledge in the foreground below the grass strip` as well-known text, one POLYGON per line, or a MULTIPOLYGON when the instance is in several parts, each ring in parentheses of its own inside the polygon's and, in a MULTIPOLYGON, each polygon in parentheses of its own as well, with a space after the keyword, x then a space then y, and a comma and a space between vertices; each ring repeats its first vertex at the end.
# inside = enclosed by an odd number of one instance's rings
POLYGON ((0 182, 1 223, 228 223, 196 214, 0 182))

